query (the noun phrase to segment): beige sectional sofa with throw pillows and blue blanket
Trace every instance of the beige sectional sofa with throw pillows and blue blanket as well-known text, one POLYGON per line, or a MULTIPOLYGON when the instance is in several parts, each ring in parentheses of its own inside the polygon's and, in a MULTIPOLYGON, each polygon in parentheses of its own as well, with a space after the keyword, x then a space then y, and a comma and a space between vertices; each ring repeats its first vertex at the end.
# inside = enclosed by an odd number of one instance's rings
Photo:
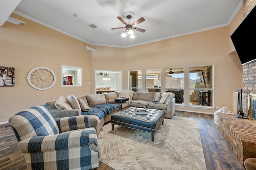
POLYGON ((143 105, 150 109, 163 110, 165 113, 164 117, 172 119, 175 112, 174 96, 173 93, 125 90, 98 95, 82 95, 79 97, 74 97, 73 95, 68 97, 60 96, 57 100, 47 101, 43 105, 49 110, 54 119, 87 115, 90 126, 94 127, 97 134, 99 134, 104 123, 111 121, 111 116, 121 109, 120 103, 115 103, 115 98, 126 97, 130 99, 122 103, 122 109, 128 108, 128 102, 130 102, 130 106, 143 105))

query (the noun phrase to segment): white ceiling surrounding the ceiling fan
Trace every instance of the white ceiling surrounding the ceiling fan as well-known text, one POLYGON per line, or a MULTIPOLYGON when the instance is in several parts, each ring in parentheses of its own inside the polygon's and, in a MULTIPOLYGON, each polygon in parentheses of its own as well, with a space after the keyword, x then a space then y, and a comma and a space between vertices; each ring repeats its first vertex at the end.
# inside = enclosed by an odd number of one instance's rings
POLYGON ((22 0, 14 13, 90 45, 131 47, 228 26, 242 4, 243 0, 22 0), (135 13, 130 23, 145 19, 136 27, 146 32, 134 31, 134 39, 121 37, 125 29, 111 30, 125 26, 116 17, 126 11, 135 13))

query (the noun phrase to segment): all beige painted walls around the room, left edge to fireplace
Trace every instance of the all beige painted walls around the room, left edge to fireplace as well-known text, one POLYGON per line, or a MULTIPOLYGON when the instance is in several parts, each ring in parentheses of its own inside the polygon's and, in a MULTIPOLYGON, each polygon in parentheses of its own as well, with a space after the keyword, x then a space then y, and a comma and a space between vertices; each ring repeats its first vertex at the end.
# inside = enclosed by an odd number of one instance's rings
MULTIPOLYGON (((94 94, 95 70, 124 70, 122 85, 123 89, 128 89, 129 70, 142 70, 144 74, 145 69, 160 68, 164 75, 164 68, 184 67, 185 107, 176 109, 199 113, 214 113, 215 110, 188 107, 189 66, 214 65, 214 107, 230 107, 230 91, 242 88, 242 65, 236 54, 229 55, 232 48, 229 26, 135 47, 116 48, 92 46, 16 14, 11 16, 26 24, 6 22, 0 27, 0 65, 15 67, 15 86, 0 87, 0 123, 23 109, 42 105, 60 95, 94 94), (84 47, 87 45, 97 50, 89 51, 84 47), (83 68, 82 87, 61 87, 62 64, 83 68), (28 72, 38 66, 48 67, 56 74, 56 84, 51 89, 39 91, 28 84, 28 72)), ((240 17, 237 18, 239 23, 240 17)), ((164 85, 164 79, 161 84, 164 85)))

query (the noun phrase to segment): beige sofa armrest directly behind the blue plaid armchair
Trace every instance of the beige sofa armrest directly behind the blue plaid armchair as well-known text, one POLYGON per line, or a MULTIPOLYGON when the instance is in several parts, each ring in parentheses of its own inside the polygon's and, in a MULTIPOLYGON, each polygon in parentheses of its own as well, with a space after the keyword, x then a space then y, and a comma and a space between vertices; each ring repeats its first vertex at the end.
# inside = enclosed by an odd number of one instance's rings
POLYGON ((80 116, 81 111, 79 109, 48 109, 54 119, 70 116, 80 116))

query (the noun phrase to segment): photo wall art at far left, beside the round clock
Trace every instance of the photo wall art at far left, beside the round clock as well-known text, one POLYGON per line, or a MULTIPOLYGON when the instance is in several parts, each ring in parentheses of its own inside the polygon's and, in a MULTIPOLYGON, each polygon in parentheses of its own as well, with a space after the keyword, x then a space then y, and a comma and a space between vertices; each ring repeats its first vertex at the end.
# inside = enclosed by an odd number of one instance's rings
POLYGON ((0 66, 0 87, 14 86, 14 67, 0 66))

